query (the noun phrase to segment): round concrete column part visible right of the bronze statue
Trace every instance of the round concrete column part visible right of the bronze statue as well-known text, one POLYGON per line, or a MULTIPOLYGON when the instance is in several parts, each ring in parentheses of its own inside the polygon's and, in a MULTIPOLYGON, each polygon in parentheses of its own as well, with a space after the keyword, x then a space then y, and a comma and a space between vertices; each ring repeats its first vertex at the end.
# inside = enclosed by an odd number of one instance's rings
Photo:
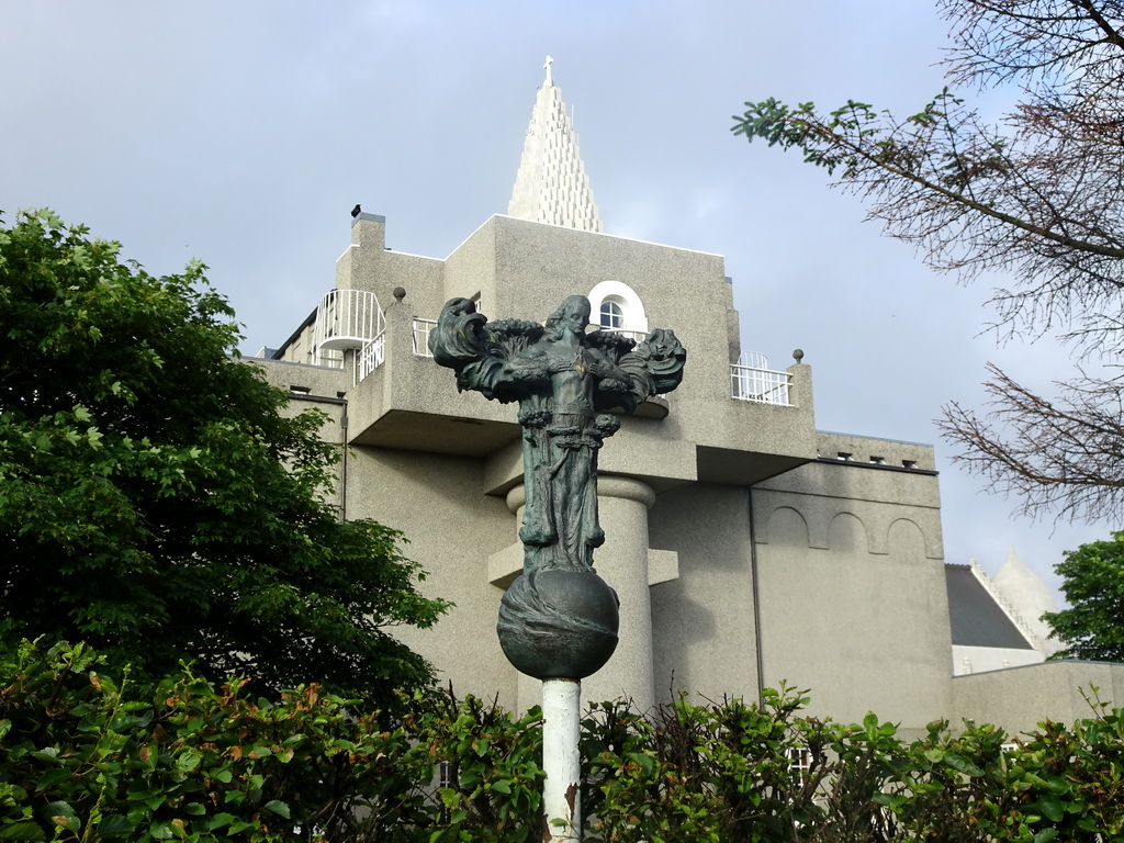
POLYGON ((655 492, 623 477, 597 479, 597 508, 605 544, 593 566, 620 598, 620 633, 608 664, 582 681, 586 703, 631 697, 640 710, 655 704, 652 664, 652 598, 647 575, 647 509, 655 492))

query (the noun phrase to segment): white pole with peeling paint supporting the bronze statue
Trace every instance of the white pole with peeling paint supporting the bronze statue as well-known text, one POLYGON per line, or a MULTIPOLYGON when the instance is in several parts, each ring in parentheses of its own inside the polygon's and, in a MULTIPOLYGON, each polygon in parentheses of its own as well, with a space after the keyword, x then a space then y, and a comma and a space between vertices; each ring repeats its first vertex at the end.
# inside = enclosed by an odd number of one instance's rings
POLYGON ((581 840, 581 682, 543 680, 543 840, 581 840), (563 821, 559 824, 556 821, 563 821), (552 822, 555 821, 555 822, 552 822))

